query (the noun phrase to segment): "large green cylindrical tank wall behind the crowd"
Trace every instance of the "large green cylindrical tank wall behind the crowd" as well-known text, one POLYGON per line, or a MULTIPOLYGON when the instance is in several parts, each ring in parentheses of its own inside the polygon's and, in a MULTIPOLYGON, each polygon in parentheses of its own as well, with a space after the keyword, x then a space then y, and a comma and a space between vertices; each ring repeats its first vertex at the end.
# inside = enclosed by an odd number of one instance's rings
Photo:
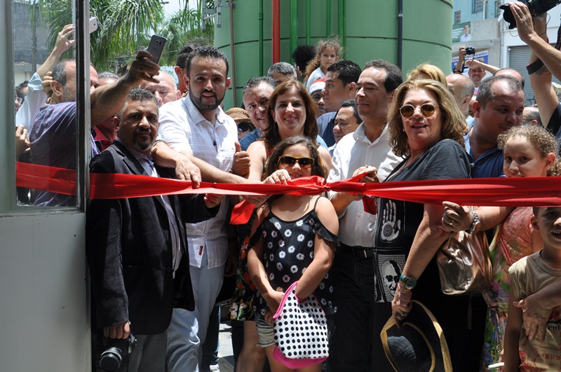
MULTIPOLYGON (((271 0, 235 0, 234 47, 236 98, 241 105, 241 88, 259 76, 259 4, 263 4, 263 70, 272 61, 271 0)), ((297 0, 298 44, 306 43, 306 0, 297 0)), ((290 54, 290 0, 280 0, 280 60, 292 63, 290 54)), ((330 30, 338 34, 339 19, 346 15, 342 37, 344 58, 363 66, 377 58, 398 62, 398 0, 311 0, 310 44, 327 36, 327 6, 331 4, 330 30), (339 17, 339 6, 343 9, 339 17)), ((222 8, 222 27, 215 28, 215 46, 230 52, 229 8, 222 8)), ((407 71, 429 62, 450 73, 452 55, 452 0, 403 0, 403 66, 407 71)), ((341 57, 340 57, 341 58, 341 57)), ((230 72, 230 76, 232 76, 230 72)), ((232 91, 232 89, 231 89, 232 91)), ((232 106, 232 95, 224 107, 232 106)))

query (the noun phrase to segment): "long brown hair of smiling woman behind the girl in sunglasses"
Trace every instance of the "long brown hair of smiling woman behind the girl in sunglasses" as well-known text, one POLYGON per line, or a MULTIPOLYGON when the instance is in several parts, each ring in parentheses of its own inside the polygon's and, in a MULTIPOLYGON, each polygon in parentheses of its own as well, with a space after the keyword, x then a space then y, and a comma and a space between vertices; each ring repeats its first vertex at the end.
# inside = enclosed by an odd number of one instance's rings
POLYGON ((316 142, 316 137, 318 137, 319 128, 318 123, 316 122, 316 116, 318 116, 319 113, 318 106, 316 106, 316 103, 314 103, 311 99, 311 96, 309 95, 308 90, 306 90, 304 84, 295 80, 285 81, 276 87, 269 98, 269 109, 267 110, 269 128, 263 131, 262 136, 266 149, 273 149, 273 147, 282 140, 282 138, 280 138, 280 133, 278 132, 278 124, 275 122, 275 118, 273 118, 273 112, 275 111, 278 97, 289 90, 296 90, 304 102, 304 109, 306 111, 304 136, 308 137, 313 142, 316 142))

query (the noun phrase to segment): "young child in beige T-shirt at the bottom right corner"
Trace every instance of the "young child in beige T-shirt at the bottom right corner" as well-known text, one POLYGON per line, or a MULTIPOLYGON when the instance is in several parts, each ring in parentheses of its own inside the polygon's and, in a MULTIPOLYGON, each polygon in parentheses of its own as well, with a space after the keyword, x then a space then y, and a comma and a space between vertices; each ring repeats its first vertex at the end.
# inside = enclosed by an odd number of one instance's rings
MULTIPOLYGON (((561 207, 536 207, 532 226, 543 239, 543 249, 513 263, 511 302, 526 298, 543 287, 561 280, 561 207)), ((561 319, 555 308, 546 324, 543 341, 529 340, 522 331, 522 309, 508 308, 504 348, 505 372, 560 371, 561 319)))

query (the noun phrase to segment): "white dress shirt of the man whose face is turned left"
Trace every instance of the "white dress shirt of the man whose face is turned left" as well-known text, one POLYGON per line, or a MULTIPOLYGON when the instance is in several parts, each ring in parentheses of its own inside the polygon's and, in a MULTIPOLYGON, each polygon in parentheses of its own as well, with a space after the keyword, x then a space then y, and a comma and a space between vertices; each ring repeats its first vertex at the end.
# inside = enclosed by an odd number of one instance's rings
MULTIPOLYGON (((377 167, 378 178, 384 181, 401 161, 403 158, 391 150, 388 126, 380 137, 370 142, 363 123, 337 143, 327 182, 348 179, 363 165, 377 167)), ((372 247, 375 224, 376 215, 365 212, 362 200, 351 202, 344 214, 339 216, 339 241, 349 246, 372 247)))

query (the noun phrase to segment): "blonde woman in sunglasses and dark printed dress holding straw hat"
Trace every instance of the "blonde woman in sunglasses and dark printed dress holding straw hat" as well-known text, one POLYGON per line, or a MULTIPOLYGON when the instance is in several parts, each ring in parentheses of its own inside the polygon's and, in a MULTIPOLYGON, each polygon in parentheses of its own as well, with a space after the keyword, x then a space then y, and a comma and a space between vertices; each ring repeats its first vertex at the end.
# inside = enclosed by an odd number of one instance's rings
MULTIPOLYGON (((407 81, 396 90, 388 112, 390 144, 400 163, 386 181, 462 179, 470 175, 464 148, 468 131, 452 93, 441 83, 407 81)), ((438 320, 450 349, 454 370, 463 371, 468 350, 468 296, 446 296, 440 290, 435 255, 450 233, 442 230, 442 205, 380 198, 374 233, 374 266, 381 301, 375 304, 374 333, 388 317, 407 322, 412 300, 423 303, 438 320), (400 268, 395 291, 384 284, 382 264, 400 268), (393 292, 393 293, 392 293, 393 292)), ((384 351, 380 351, 380 357, 384 351)))

